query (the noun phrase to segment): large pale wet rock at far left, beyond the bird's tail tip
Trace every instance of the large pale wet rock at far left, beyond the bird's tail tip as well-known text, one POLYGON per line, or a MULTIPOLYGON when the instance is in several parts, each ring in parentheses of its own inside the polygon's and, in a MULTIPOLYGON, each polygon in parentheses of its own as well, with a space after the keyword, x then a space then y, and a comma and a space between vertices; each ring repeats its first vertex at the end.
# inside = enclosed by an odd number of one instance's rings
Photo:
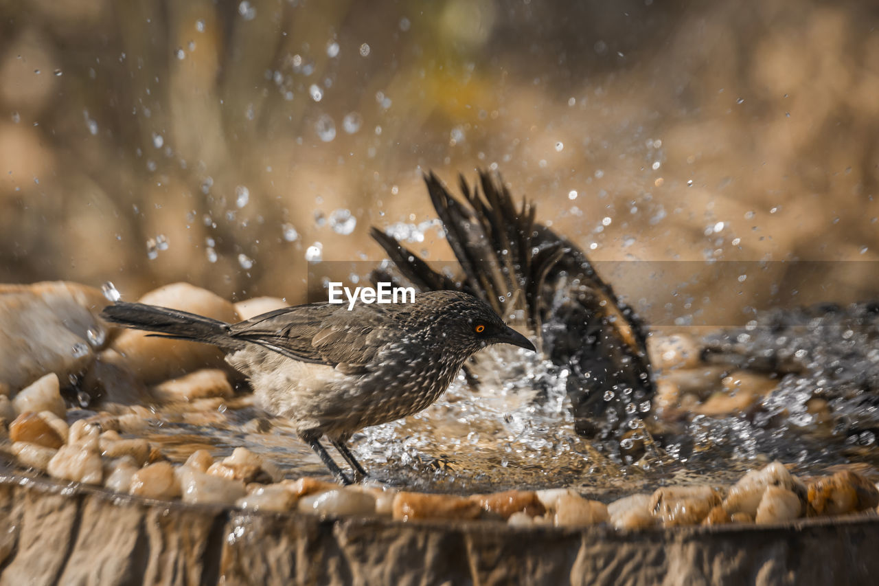
POLYGON ((107 303, 72 282, 0 285, 0 383, 14 392, 49 372, 63 380, 82 372, 105 344, 97 316, 107 303))

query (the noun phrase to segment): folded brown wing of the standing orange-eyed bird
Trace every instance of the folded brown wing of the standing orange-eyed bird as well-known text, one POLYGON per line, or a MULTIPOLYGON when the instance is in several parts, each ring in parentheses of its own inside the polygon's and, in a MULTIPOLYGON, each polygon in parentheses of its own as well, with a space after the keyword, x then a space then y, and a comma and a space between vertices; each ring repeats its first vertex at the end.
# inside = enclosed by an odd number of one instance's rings
POLYGON ((310 304, 270 311, 231 326, 230 334, 282 355, 354 372, 393 340, 394 320, 374 305, 310 304))

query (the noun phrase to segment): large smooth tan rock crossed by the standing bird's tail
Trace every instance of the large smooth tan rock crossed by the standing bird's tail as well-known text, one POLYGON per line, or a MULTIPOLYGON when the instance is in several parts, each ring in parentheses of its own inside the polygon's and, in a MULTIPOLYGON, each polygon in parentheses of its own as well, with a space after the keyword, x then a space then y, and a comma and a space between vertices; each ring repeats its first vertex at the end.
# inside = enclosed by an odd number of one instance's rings
MULTIPOLYGON (((150 291, 138 301, 227 322, 239 321, 231 303, 207 289, 185 282, 150 291)), ((109 348, 121 355, 127 370, 146 385, 156 385, 204 368, 225 368, 223 353, 219 348, 192 341, 148 337, 148 333, 140 330, 122 330, 111 341, 109 348)))

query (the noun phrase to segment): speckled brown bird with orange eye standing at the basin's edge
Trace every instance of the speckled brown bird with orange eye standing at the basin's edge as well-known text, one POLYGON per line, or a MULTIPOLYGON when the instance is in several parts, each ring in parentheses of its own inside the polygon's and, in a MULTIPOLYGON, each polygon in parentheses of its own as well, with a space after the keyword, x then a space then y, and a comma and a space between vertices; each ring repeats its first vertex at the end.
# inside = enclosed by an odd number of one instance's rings
POLYGON ((368 473, 347 442, 359 431, 432 405, 478 350, 506 343, 536 351, 483 300, 430 291, 410 303, 314 303, 229 324, 156 305, 117 302, 102 316, 150 335, 212 344, 248 377, 258 403, 287 418, 342 484, 352 480, 320 442, 368 473))

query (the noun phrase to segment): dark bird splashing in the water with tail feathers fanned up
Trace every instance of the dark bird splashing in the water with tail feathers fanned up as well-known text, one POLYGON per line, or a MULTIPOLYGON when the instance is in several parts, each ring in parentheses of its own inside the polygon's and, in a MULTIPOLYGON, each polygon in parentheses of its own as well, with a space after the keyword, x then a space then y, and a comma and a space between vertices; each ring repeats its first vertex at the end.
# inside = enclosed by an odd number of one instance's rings
MULTIPOLYGON (((471 186, 461 176, 461 199, 433 173, 425 183, 461 275, 434 270, 373 229, 399 276, 420 290, 466 291, 501 315, 521 310, 543 354, 570 373, 566 385, 578 433, 619 450, 629 423, 645 415, 655 392, 647 336, 635 311, 577 245, 537 222, 534 205, 517 205, 499 179, 481 172, 471 186)), ((400 281, 383 270, 373 279, 400 281)))

